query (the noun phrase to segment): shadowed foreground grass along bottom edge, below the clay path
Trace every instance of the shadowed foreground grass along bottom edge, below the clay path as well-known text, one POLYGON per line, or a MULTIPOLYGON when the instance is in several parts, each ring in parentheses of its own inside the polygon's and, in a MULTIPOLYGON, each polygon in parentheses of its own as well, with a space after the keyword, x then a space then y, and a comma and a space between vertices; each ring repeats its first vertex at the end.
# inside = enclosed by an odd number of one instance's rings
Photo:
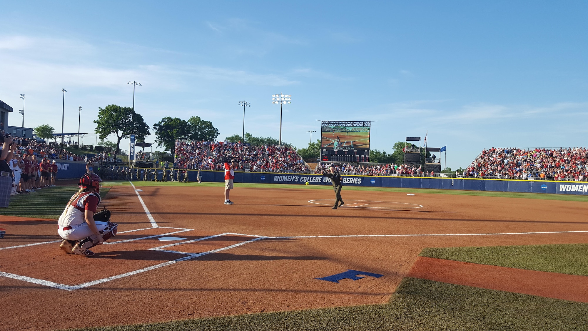
POLYGON ((405 278, 389 303, 76 331, 586 330, 588 304, 405 278))

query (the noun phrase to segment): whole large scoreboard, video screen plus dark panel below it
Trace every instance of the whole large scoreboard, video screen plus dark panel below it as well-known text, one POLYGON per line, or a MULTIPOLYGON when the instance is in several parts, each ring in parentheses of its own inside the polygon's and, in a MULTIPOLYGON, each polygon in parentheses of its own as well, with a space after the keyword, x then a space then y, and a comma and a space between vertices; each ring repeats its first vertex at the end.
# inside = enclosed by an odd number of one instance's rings
POLYGON ((369 162, 369 121, 321 121, 320 160, 369 162))

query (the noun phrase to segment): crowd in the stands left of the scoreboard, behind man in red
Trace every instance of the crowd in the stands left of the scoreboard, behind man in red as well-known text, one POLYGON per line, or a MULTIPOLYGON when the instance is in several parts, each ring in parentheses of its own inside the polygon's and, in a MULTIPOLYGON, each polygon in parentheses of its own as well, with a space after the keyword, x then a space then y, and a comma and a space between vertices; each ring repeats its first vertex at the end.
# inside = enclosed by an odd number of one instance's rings
POLYGON ((237 159, 239 170, 260 172, 310 171, 296 150, 288 146, 178 141, 175 167, 183 169, 224 170, 224 161, 237 159))

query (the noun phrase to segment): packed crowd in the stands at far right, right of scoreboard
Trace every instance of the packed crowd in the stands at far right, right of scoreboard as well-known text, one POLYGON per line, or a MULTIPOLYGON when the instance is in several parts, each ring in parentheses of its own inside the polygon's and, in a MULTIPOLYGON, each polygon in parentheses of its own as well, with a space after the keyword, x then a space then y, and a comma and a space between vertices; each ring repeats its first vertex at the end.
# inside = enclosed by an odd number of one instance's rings
POLYGON ((547 149, 490 148, 463 172, 464 177, 586 181, 585 147, 547 149))

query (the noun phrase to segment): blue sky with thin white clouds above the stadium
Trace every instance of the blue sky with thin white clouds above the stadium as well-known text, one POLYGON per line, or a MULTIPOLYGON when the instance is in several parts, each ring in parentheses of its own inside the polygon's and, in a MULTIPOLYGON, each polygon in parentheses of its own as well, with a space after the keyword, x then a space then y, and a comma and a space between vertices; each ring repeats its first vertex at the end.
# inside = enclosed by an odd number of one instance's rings
MULTIPOLYGON (((0 99, 25 126, 93 133, 98 107, 198 115, 298 147, 315 120, 377 121, 392 152, 429 131, 447 166, 485 147, 586 145, 588 2, 0 1, 0 99)), ((147 138, 152 142, 154 135, 147 138)), ((313 140, 318 138, 313 135, 313 140)), ((94 143, 87 138, 88 143, 94 143)), ((111 140, 113 138, 111 137, 111 140)), ((123 142, 123 146, 128 141, 123 142)), ((123 147, 126 148, 126 147, 123 147)), ((161 148, 159 148, 161 150, 161 148)))

